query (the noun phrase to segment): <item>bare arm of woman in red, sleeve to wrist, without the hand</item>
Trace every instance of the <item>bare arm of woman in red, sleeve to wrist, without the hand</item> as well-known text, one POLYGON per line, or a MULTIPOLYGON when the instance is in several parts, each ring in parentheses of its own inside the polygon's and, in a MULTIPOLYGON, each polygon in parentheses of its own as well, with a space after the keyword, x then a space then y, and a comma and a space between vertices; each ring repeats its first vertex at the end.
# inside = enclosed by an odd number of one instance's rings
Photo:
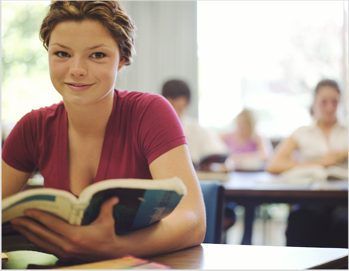
POLYGON ((153 179, 179 177, 187 195, 174 211, 153 226, 128 236, 125 245, 139 257, 167 253, 202 243, 206 231, 205 206, 187 145, 164 153, 150 164, 153 179))

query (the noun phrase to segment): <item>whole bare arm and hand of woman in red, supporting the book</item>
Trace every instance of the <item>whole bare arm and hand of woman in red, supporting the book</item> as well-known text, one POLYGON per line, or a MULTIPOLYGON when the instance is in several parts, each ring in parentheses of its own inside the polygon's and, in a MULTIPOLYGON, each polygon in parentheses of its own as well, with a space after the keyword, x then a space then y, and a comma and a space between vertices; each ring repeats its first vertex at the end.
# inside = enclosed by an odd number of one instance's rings
POLYGON ((186 144, 177 146, 150 164, 154 179, 178 176, 187 195, 166 218, 143 229, 117 236, 112 208, 118 199, 103 203, 99 216, 87 226, 70 225, 39 210, 27 210, 27 218, 11 220, 30 241, 62 260, 101 261, 131 254, 147 257, 201 244, 204 239, 205 207, 186 144))

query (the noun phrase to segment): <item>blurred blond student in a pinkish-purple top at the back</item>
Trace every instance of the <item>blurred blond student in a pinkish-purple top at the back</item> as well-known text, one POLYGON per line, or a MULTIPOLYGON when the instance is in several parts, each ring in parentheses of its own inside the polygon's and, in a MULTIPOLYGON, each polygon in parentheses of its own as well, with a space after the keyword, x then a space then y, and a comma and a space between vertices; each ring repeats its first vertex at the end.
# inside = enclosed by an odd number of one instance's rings
POLYGON ((254 113, 244 109, 236 118, 236 129, 221 136, 236 169, 263 169, 265 161, 272 154, 270 140, 259 136, 255 127, 254 113))

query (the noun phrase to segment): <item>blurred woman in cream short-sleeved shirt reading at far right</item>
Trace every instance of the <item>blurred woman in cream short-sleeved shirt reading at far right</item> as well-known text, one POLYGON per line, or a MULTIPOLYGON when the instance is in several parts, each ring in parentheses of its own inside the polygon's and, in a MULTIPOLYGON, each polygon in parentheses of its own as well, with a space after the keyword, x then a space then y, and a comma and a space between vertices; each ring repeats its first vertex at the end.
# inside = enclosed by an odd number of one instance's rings
POLYGON ((297 165, 327 167, 348 160, 348 127, 341 125, 336 116, 339 101, 337 82, 320 81, 315 89, 313 123, 298 128, 275 148, 268 171, 279 174, 297 165))

